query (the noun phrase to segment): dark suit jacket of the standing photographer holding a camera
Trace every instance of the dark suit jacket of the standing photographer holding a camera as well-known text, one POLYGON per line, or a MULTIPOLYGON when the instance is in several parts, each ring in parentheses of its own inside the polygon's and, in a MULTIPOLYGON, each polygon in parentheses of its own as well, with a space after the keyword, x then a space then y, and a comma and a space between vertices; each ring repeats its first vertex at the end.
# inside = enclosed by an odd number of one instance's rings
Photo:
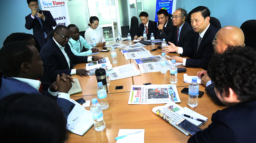
POLYGON ((39 20, 35 17, 34 19, 30 16, 31 13, 25 17, 26 19, 26 24, 25 27, 26 29, 30 30, 33 29, 33 35, 37 38, 39 44, 41 47, 45 44, 45 37, 44 33, 48 34, 50 31, 53 30, 53 26, 56 26, 56 21, 53 19, 52 14, 50 11, 43 10, 43 14, 45 16, 45 21, 41 19, 43 28, 39 22, 39 20))

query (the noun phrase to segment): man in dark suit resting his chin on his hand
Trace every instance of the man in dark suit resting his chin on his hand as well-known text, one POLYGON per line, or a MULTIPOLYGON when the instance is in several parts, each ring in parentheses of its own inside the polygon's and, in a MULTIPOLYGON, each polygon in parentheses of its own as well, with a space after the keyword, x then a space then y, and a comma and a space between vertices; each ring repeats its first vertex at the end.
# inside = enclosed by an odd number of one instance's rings
POLYGON ((174 38, 174 33, 176 31, 175 26, 173 26, 172 21, 169 20, 168 12, 165 9, 160 9, 157 11, 157 18, 158 18, 158 31, 156 39, 163 40, 168 43, 174 38))

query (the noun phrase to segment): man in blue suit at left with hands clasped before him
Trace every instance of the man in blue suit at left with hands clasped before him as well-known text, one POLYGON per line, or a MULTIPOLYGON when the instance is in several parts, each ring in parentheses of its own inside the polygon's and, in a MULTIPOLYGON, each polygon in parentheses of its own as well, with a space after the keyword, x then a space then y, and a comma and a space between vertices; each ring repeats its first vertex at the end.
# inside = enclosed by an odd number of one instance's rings
MULTIPOLYGON (((0 70, 4 73, 0 89, 0 99, 16 94, 27 93, 43 96, 39 91, 43 76, 43 62, 37 49, 28 42, 16 41, 4 45, 0 50, 0 70)), ((56 76, 45 96, 49 96, 60 106, 67 119, 74 104, 69 101, 68 91, 72 87, 72 78, 62 74, 56 76)))

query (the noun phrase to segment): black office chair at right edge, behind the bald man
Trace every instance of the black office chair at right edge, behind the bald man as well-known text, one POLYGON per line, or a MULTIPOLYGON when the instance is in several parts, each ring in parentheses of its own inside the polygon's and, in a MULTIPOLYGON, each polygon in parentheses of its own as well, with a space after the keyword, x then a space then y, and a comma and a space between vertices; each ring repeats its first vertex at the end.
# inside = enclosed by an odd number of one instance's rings
POLYGON ((241 25, 245 35, 245 46, 256 48, 256 20, 247 20, 241 25))

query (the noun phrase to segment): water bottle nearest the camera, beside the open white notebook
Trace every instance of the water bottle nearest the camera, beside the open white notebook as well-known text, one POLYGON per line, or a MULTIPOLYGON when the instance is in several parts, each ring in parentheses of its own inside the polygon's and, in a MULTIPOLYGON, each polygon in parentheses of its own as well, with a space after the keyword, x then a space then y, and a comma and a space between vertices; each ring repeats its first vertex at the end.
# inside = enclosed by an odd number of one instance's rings
POLYGON ((93 98, 91 103, 91 115, 92 119, 94 120, 94 129, 99 132, 104 130, 106 127, 103 119, 102 107, 98 103, 97 98, 93 98))

